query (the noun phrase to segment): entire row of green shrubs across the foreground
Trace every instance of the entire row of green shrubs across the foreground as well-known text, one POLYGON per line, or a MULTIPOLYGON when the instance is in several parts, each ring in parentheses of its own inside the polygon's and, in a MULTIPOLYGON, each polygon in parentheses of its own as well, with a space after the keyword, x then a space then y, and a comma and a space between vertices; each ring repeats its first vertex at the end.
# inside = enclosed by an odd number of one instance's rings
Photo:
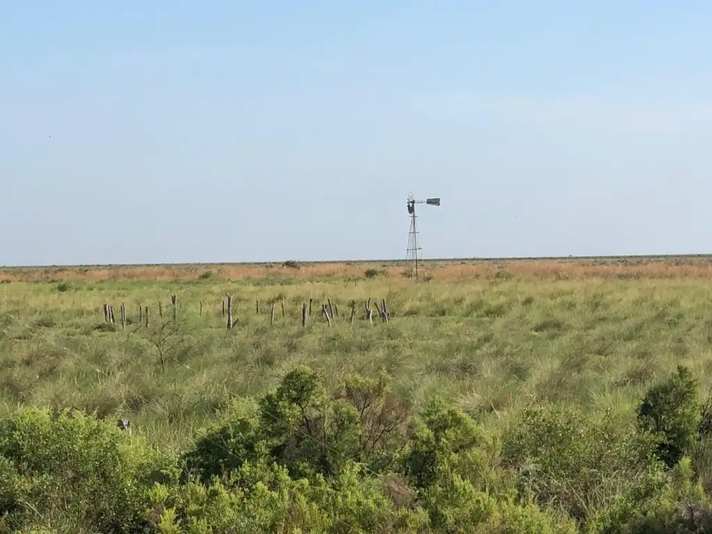
POLYGON ((298 367, 174 456, 79 413, 0 422, 0 531, 701 533, 708 409, 680 367, 635 423, 532 407, 492 441, 389 378, 328 391, 298 367), (43 530, 42 530, 43 529, 43 530))

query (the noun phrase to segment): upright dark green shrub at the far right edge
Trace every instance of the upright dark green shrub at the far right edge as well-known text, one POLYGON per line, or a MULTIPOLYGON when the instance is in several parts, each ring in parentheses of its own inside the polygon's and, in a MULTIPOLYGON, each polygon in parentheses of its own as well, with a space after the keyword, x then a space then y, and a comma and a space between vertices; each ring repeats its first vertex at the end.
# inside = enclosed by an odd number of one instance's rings
POLYGON ((646 392, 638 408, 642 431, 658 436, 657 455, 668 467, 681 459, 699 433, 701 421, 697 382, 690 370, 677 372, 646 392))

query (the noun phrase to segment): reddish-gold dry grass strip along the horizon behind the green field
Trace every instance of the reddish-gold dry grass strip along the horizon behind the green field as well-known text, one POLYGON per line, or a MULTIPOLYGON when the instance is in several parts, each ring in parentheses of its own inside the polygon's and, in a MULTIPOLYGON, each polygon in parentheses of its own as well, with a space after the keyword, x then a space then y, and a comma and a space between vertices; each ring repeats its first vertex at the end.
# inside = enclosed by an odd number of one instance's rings
MULTIPOLYGON (((0 282, 100 282, 100 281, 190 281, 214 277, 224 281, 273 279, 316 281, 330 278, 361 278, 375 269, 389 278, 402 278, 404 265, 377 262, 303 263, 299 268, 281 263, 224 263, 214 265, 91 266, 5 268, 0 282)), ((424 276, 439 282, 469 281, 492 276, 567 280, 580 278, 712 278, 708 259, 683 258, 592 258, 587 260, 425 261, 424 276)))

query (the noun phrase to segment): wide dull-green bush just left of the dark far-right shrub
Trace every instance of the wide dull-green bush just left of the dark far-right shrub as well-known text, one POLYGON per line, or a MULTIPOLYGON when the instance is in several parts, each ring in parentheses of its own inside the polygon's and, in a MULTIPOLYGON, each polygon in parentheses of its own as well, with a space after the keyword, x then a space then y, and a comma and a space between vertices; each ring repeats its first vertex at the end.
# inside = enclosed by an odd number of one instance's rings
POLYGON ((649 436, 577 409, 526 409, 504 436, 502 462, 518 474, 525 501, 553 504, 583 525, 614 506, 634 513, 666 482, 649 436))

